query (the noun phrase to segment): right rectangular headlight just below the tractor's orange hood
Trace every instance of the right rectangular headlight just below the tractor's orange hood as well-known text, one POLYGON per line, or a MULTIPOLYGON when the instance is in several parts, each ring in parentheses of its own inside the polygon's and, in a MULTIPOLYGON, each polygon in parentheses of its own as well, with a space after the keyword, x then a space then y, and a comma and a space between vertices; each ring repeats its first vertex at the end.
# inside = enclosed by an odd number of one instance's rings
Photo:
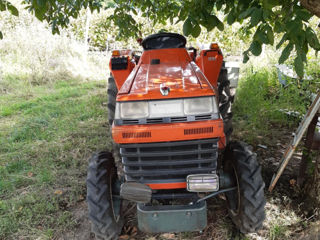
POLYGON ((215 97, 186 98, 184 99, 185 115, 199 115, 218 113, 215 97))

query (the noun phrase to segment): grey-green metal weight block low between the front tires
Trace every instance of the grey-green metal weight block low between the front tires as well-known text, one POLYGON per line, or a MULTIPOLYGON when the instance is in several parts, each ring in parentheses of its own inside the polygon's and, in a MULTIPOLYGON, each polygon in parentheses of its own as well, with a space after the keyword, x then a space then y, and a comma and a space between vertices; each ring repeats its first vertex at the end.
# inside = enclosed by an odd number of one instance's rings
POLYGON ((207 204, 147 206, 137 204, 139 229, 148 233, 201 231, 207 226, 207 204))

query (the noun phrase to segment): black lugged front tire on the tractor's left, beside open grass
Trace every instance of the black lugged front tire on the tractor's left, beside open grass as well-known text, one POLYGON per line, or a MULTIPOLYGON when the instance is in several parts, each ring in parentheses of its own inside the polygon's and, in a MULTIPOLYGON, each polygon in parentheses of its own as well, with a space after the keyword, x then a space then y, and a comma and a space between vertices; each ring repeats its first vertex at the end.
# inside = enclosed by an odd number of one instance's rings
POLYGON ((117 180, 114 160, 110 152, 94 154, 87 175, 87 203, 92 232, 96 239, 118 239, 123 226, 120 183, 117 180))

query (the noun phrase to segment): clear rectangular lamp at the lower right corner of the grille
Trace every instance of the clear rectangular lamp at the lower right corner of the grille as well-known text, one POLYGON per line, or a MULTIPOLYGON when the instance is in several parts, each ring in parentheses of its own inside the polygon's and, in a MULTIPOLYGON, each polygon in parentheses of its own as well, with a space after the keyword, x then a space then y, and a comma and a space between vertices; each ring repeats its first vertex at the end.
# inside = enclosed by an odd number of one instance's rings
POLYGON ((189 192, 215 192, 219 190, 217 174, 193 174, 187 176, 187 190, 189 192))

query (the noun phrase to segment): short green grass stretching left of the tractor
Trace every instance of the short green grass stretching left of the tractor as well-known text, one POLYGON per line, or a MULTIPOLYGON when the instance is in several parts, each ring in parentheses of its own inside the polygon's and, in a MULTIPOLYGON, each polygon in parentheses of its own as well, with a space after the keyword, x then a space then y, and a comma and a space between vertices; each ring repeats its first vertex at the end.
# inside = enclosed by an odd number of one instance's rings
POLYGON ((0 95, 0 239, 50 239, 75 224, 87 159, 110 144, 105 82, 13 83, 0 95))

